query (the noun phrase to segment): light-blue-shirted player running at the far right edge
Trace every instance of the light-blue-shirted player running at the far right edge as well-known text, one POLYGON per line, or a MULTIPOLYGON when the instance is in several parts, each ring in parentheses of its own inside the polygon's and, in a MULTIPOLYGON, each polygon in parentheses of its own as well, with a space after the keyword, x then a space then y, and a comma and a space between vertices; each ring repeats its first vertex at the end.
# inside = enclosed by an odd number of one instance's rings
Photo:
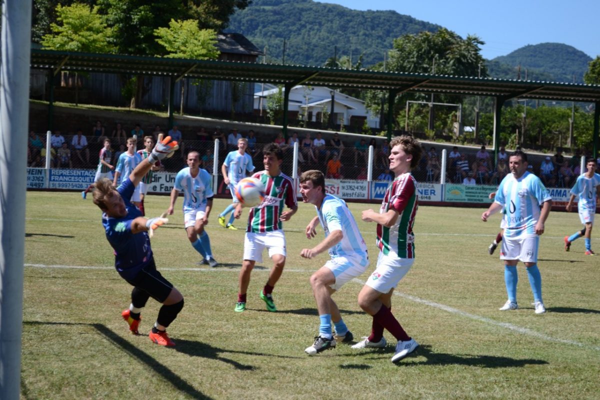
POLYGON ((571 242, 578 237, 586 237, 586 255, 595 255, 592 251, 592 225, 596 214, 596 199, 600 192, 600 175, 596 173, 596 161, 589 158, 586 161, 587 172, 578 176, 577 182, 571 188, 571 198, 566 205, 566 210, 571 211, 573 200, 578 197, 577 210, 579 219, 584 225, 581 231, 577 231, 571 236, 565 236, 565 251, 571 248, 571 242))

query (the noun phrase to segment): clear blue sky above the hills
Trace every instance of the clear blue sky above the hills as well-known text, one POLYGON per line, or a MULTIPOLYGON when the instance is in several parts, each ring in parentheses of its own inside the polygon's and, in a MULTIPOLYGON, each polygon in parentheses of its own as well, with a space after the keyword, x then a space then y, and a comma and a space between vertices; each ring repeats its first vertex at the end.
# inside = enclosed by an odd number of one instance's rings
POLYGON ((481 55, 504 56, 527 44, 564 43, 592 58, 600 55, 598 0, 316 0, 352 10, 394 10, 436 23, 463 38, 485 41, 481 55))

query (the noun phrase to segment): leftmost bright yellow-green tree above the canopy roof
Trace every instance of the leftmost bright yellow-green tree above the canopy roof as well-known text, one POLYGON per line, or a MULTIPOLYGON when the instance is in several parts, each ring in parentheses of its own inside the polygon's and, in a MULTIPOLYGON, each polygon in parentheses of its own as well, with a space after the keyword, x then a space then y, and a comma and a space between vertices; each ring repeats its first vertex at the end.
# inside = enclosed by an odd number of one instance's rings
POLYGON ((66 52, 112 53, 115 47, 110 44, 113 36, 104 18, 98 14, 98 7, 74 3, 56 6, 57 23, 51 23, 52 34, 44 35, 41 44, 46 49, 66 52), (60 25, 59 25, 60 24, 60 25))

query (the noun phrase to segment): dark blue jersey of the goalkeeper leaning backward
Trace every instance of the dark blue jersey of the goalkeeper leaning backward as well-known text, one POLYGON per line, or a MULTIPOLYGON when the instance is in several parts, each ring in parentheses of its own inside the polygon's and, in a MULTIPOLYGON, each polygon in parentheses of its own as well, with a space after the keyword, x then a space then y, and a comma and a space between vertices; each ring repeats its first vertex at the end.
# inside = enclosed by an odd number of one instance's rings
POLYGON ((134 278, 152 260, 148 233, 131 233, 131 221, 142 216, 142 212, 131 203, 131 196, 135 189, 129 178, 126 178, 117 188, 125 201, 127 215, 122 218, 112 218, 106 213, 102 215, 106 239, 115 249, 115 268, 124 279, 134 278))

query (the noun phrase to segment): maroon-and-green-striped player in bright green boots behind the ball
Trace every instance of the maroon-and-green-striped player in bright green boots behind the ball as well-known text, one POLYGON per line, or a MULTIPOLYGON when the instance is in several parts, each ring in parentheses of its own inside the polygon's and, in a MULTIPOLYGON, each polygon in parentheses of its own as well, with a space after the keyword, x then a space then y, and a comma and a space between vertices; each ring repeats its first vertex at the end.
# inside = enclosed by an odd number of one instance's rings
MULTIPOLYGON (((286 237, 281 229, 282 221, 289 221, 298 210, 296 187, 292 178, 281 172, 283 151, 275 143, 263 149, 263 164, 265 170, 255 173, 252 177, 259 179, 265 185, 265 199, 259 206, 250 209, 248 228, 244 238, 244 261, 239 272, 238 302, 235 311, 246 309, 246 293, 250 284, 250 273, 256 261, 262 263, 262 252, 266 248, 273 260, 269 280, 260 298, 266 303, 268 311, 277 311, 271 295, 275 283, 279 280, 286 263, 286 237), (284 211, 286 205, 289 210, 284 211)), ((242 205, 238 203, 235 218, 242 213, 242 205)))

